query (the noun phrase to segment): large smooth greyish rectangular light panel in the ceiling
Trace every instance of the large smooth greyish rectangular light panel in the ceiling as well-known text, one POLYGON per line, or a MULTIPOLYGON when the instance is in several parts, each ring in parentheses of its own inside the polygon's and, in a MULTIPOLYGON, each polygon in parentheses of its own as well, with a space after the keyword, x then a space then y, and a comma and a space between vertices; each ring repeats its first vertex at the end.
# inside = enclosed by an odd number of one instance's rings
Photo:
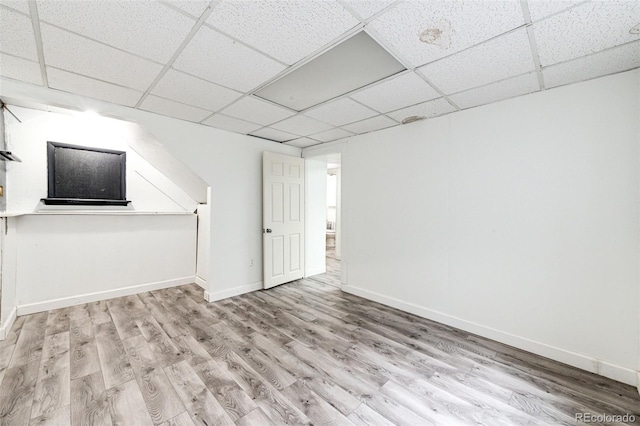
POLYGON ((302 111, 404 69, 363 31, 260 89, 256 96, 302 111))

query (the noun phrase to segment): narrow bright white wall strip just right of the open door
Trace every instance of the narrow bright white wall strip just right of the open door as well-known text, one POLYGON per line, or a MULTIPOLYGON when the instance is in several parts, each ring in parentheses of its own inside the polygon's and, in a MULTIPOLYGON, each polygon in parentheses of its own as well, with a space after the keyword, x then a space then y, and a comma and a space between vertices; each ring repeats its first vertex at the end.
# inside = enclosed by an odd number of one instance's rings
POLYGON ((305 159, 305 276, 327 270, 327 161, 305 159))

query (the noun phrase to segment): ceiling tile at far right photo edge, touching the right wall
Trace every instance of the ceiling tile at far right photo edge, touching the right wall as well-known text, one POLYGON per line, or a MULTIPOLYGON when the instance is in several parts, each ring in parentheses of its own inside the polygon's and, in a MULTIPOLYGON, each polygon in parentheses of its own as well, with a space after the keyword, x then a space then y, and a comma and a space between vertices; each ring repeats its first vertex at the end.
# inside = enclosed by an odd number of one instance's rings
POLYGON ((640 67, 640 42, 552 65, 542 70, 546 87, 576 83, 640 67))

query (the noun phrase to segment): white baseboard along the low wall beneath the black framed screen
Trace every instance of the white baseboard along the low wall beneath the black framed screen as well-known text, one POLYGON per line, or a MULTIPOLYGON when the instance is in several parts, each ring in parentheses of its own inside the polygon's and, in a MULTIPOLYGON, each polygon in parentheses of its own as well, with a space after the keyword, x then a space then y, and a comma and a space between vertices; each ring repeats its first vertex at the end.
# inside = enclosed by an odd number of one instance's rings
POLYGON ((98 300, 113 299, 114 297, 130 296, 132 294, 143 293, 145 291, 160 290, 163 288, 191 284, 194 281, 195 276, 191 275, 173 280, 158 281, 131 287, 117 288, 114 290, 105 290, 95 293, 80 294, 77 296, 61 297, 59 299, 47 300, 44 302, 18 305, 18 315, 28 315, 36 312, 49 311, 51 309, 67 308, 69 306, 82 305, 83 303, 97 302, 98 300))

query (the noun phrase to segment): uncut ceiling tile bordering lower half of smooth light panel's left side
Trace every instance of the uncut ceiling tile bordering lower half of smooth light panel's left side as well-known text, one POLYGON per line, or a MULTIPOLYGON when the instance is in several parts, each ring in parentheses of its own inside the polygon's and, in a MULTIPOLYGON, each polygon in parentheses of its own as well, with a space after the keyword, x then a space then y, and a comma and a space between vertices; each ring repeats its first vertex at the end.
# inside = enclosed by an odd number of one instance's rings
POLYGON ((285 68, 207 27, 198 30, 173 66, 243 92, 259 86, 285 68))

